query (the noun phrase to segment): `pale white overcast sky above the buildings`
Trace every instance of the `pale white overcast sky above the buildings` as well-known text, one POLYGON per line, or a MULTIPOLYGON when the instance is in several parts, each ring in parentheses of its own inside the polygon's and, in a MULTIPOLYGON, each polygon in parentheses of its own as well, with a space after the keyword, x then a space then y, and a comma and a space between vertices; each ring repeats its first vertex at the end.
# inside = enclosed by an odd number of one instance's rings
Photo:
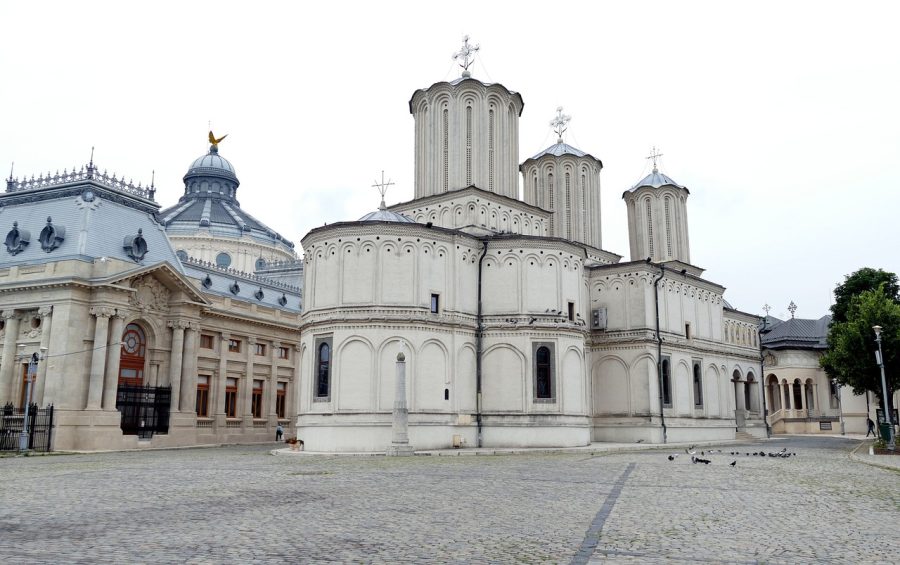
POLYGON ((174 204, 228 134, 241 206, 297 244, 413 195, 418 88, 473 76, 525 100, 520 161, 566 141, 603 161, 603 247, 628 260, 622 192, 687 186, 692 262, 740 310, 818 318, 864 267, 900 271, 896 2, 5 2, 0 166, 85 164, 174 204))

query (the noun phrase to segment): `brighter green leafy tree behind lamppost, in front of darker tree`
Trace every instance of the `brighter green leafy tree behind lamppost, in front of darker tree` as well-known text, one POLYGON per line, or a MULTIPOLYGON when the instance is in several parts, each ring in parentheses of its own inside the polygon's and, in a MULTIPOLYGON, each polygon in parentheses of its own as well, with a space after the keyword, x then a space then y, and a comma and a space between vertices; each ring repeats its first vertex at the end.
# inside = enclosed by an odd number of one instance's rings
POLYGON ((881 349, 888 395, 900 388, 900 304, 889 296, 885 284, 865 290, 849 300, 846 321, 832 321, 828 330, 828 350, 820 364, 829 377, 853 388, 854 394, 867 390, 881 398, 881 372, 875 362, 875 332, 881 326, 881 349))

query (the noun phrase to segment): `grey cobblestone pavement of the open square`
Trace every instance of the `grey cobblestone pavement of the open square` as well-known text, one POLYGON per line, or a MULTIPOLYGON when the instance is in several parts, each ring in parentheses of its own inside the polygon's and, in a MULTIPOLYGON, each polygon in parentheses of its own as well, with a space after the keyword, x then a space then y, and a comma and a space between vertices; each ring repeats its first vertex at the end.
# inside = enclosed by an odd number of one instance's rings
POLYGON ((900 473, 851 461, 856 445, 722 446, 709 465, 675 449, 4 458, 0 562, 896 563, 900 473), (796 457, 728 454, 782 447, 796 457))

